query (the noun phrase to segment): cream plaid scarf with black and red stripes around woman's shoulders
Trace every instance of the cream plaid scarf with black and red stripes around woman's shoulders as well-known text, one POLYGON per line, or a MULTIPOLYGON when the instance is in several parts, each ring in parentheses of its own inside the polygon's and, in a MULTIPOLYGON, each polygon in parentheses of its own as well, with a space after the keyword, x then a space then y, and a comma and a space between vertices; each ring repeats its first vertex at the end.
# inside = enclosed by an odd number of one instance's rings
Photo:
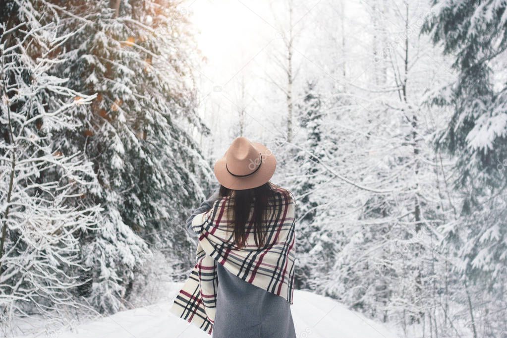
MULTIPOLYGON (((229 272, 272 292, 293 304, 295 259, 294 200, 277 190, 268 201, 266 245, 259 248, 253 239, 252 223, 246 227, 242 248, 234 244, 234 234, 227 229, 230 197, 213 203, 210 210, 192 220, 192 229, 199 234, 196 265, 183 288, 178 292, 170 312, 211 334, 216 310, 218 278, 216 262, 229 272)), ((251 220, 251 217, 250 217, 251 220)))

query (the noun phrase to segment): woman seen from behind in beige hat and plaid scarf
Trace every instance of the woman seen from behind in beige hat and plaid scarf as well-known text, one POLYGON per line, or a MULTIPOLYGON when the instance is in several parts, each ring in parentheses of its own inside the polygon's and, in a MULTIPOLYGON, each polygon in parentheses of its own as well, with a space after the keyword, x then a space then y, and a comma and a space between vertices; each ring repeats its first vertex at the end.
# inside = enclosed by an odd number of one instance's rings
POLYGON ((236 138, 214 166, 220 189, 187 220, 197 264, 171 312, 214 338, 296 337, 294 199, 269 182, 275 167, 264 145, 236 138))

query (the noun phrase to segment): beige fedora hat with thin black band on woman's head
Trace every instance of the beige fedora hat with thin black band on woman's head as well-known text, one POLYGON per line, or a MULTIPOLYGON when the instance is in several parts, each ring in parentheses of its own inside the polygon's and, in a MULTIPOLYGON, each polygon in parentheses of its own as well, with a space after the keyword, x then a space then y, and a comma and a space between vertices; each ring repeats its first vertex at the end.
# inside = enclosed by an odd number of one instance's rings
POLYGON ((266 146, 236 137, 213 171, 220 184, 232 190, 252 189, 268 182, 276 168, 276 158, 266 146))

